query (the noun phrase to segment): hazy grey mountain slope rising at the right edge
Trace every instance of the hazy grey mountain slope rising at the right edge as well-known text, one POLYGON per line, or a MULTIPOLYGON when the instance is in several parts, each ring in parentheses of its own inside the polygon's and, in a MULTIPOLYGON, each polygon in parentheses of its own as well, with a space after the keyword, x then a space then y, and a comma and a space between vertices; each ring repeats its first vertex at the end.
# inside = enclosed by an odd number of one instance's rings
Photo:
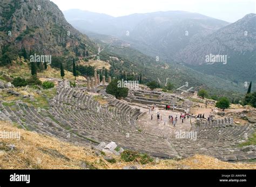
POLYGON ((207 74, 234 82, 256 81, 256 15, 251 13, 203 40, 185 47, 175 59, 207 74), (222 54, 226 63, 207 63, 206 56, 222 54), (198 64, 203 64, 199 65, 198 64))

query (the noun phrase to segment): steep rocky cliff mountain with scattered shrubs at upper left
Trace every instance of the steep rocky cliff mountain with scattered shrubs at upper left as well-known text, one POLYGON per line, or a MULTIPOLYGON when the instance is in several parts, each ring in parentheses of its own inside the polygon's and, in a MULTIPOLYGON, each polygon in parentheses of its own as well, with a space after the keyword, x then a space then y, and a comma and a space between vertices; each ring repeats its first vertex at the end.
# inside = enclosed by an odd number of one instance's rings
MULTIPOLYGON (((95 44, 81 34, 49 0, 2 0, 0 45, 10 49, 61 56, 95 51, 95 44)), ((13 51, 14 52, 14 51, 13 51)))

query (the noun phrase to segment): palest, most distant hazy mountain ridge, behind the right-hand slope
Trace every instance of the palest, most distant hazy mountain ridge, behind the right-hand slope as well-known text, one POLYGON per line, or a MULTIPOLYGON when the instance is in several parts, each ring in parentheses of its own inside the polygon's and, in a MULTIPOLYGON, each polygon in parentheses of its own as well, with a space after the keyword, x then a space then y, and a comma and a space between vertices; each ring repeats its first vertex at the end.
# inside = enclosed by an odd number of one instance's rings
POLYGON ((173 59, 174 54, 188 44, 228 25, 223 20, 185 11, 135 13, 115 18, 68 10, 64 15, 79 30, 115 36, 145 54, 165 59, 173 59))

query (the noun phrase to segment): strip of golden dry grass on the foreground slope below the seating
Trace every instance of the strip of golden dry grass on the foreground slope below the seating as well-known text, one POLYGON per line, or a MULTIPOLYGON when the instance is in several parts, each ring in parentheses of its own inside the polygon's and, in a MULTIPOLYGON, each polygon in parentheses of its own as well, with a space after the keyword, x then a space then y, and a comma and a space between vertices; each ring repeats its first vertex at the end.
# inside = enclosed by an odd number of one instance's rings
POLYGON ((139 169, 256 169, 256 164, 221 162, 215 158, 195 155, 180 161, 159 160, 149 164, 104 160, 93 150, 62 142, 51 136, 18 129, 9 122, 0 122, 0 130, 19 131, 21 140, 0 139, 0 169, 122 169, 136 165, 139 169), (11 150, 8 146, 15 145, 11 150))

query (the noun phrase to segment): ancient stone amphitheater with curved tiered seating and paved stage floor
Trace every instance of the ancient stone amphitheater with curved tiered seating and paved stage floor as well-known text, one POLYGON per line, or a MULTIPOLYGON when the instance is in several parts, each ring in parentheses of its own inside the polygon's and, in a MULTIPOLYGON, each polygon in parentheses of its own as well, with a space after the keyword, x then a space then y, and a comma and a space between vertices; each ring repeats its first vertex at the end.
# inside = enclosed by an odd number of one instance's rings
MULTIPOLYGON (((93 86, 93 85, 92 85, 93 86)), ((179 102, 175 96, 149 91, 131 92, 129 98, 117 100, 105 93, 87 92, 59 84, 57 94, 49 99, 49 109, 35 108, 22 101, 14 106, 0 102, 0 120, 8 120, 42 134, 58 137, 84 146, 114 141, 124 149, 137 150, 160 158, 181 158, 194 154, 210 155, 223 161, 247 161, 256 158, 256 146, 238 147, 255 131, 255 123, 235 124, 232 116, 212 121, 196 118, 179 120, 173 127, 164 119, 179 115, 193 103, 179 102), (103 103, 95 100, 100 95, 103 103), (154 98, 143 97, 145 94, 154 98), (165 110, 164 102, 173 103, 174 110, 165 110), (149 105, 157 110, 149 112, 149 105), (151 120, 151 114, 163 114, 163 120, 151 120), (197 138, 177 138, 177 131, 196 131, 197 138)))

